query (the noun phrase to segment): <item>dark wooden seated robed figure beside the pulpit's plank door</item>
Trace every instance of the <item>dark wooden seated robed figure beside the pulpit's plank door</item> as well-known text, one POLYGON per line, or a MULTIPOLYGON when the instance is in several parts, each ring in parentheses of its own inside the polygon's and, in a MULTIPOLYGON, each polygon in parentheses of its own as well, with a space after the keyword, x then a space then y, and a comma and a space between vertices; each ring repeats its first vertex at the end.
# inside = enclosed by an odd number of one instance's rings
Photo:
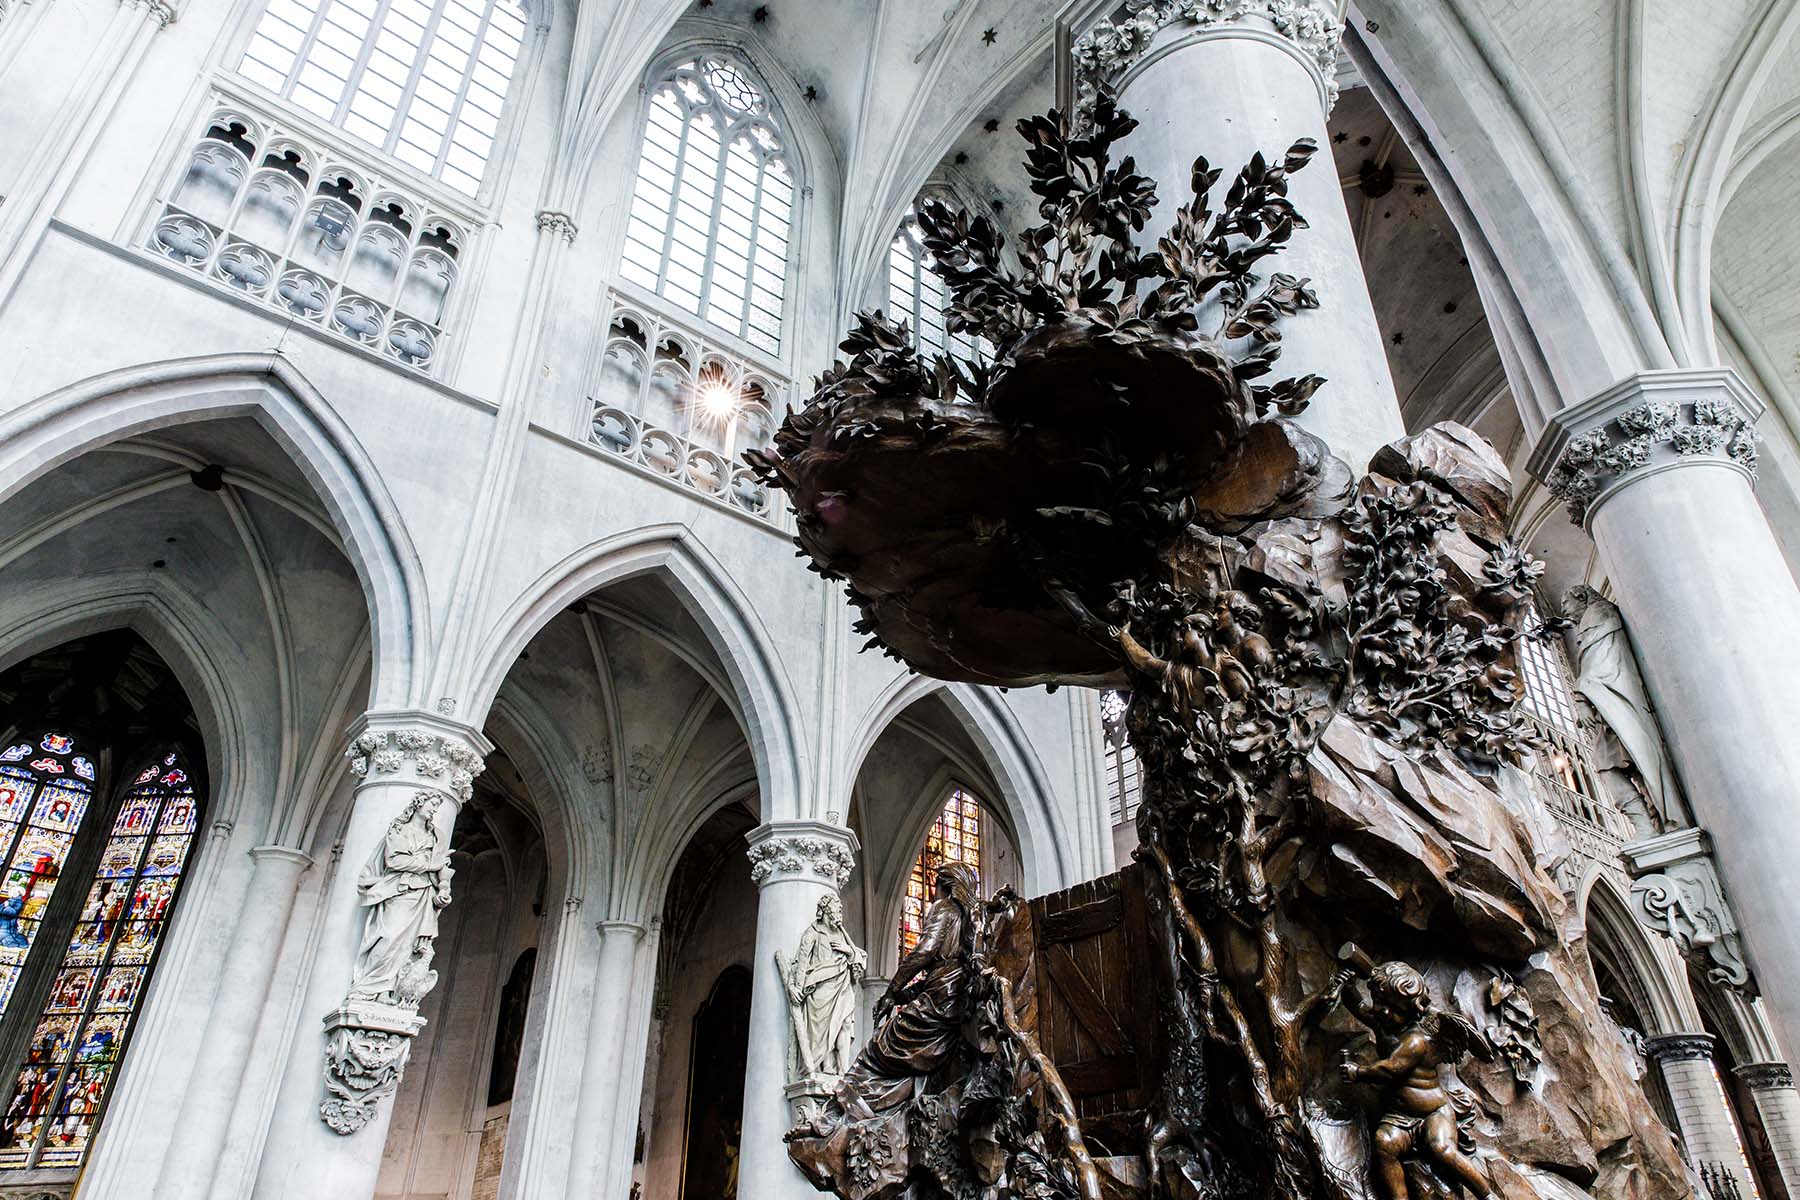
POLYGON ((947 862, 932 876, 918 945, 900 959, 875 1004, 875 1036, 844 1074, 839 1099, 853 1119, 907 1103, 914 1087, 945 1065, 963 1038, 967 984, 976 954, 976 873, 947 862))

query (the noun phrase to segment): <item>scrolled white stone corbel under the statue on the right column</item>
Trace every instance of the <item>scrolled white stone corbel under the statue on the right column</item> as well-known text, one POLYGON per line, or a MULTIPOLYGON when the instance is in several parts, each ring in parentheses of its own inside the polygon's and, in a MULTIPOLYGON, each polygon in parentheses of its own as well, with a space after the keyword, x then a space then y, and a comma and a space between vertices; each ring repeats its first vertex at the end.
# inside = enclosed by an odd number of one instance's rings
POLYGON ((1705 829, 1676 829, 1624 847, 1638 923, 1672 937, 1715 984, 1753 993, 1737 918, 1724 898, 1705 829))

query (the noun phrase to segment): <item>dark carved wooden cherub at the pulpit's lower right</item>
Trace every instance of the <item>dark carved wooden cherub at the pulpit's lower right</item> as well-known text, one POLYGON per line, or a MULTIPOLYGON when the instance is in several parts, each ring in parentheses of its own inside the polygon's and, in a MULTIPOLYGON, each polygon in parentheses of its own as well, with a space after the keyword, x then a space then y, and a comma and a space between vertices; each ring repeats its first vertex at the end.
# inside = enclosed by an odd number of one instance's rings
POLYGON ((1438 1011, 1426 991, 1426 977, 1406 963, 1373 968, 1366 999, 1350 982, 1348 970, 1339 972, 1332 984, 1336 999, 1375 1034, 1377 1058, 1346 1054, 1343 1078, 1382 1090, 1373 1168, 1386 1200, 1411 1200, 1408 1159, 1440 1168, 1478 1200, 1492 1200, 1494 1186, 1472 1157, 1474 1139, 1467 1128, 1474 1097, 1445 1087, 1442 1076, 1445 1067, 1469 1054, 1492 1058, 1481 1031, 1456 1013, 1438 1011))

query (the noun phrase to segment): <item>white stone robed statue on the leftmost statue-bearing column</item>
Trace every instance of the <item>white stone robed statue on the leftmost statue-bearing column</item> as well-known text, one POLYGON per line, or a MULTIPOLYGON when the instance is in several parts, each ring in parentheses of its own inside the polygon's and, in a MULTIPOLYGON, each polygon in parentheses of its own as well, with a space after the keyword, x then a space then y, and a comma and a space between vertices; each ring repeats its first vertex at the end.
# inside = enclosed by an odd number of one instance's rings
MULTIPOLYGON (((387 835, 356 880, 365 912, 351 1000, 396 1004, 414 999, 400 995, 403 975, 416 957, 430 961, 437 912, 450 903, 450 856, 436 824, 441 802, 430 792, 414 795, 389 822, 387 835)), ((414 990, 407 988, 409 993, 414 990)), ((418 991, 423 995, 423 990, 418 991)))

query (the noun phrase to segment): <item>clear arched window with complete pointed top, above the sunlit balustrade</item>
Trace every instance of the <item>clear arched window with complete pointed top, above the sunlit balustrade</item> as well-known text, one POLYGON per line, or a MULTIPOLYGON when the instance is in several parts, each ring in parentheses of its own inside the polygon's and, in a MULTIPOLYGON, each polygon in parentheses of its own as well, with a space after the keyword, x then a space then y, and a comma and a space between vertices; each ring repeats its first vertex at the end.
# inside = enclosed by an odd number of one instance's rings
POLYGON ((794 167, 749 68, 695 58, 652 88, 619 273, 779 353, 794 167))

